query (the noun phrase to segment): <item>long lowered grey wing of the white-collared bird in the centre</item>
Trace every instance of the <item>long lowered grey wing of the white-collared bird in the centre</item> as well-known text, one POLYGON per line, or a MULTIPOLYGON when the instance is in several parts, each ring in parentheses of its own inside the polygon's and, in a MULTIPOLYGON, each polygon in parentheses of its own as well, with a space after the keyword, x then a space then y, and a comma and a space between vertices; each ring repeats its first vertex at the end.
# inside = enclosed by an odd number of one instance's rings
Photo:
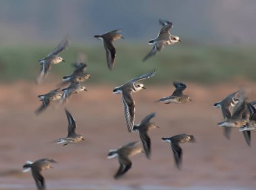
POLYGON ((125 121, 127 124, 128 131, 133 130, 134 125, 134 114, 135 114, 135 103, 131 97, 131 92, 123 92, 122 100, 125 109, 125 121))

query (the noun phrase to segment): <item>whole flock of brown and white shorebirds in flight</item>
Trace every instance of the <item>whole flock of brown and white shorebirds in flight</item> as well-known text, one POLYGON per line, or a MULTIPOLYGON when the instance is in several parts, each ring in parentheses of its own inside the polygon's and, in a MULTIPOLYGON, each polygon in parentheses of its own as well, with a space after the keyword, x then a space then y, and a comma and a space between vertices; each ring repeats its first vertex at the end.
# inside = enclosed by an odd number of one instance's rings
MULTIPOLYGON (((170 29, 172 28, 172 22, 168 20, 160 19, 159 23, 161 25, 160 32, 156 39, 150 40, 149 44, 153 44, 152 50, 143 58, 143 61, 148 60, 148 58, 154 56, 157 52, 160 52, 162 48, 166 45, 171 45, 176 42, 181 42, 178 36, 173 36, 170 34, 170 29)), ((122 30, 113 30, 102 35, 96 35, 95 38, 103 40, 104 49, 106 50, 106 62, 109 70, 113 69, 115 65, 116 49, 113 46, 113 41, 123 38, 119 33, 122 30)), ((44 82, 49 71, 51 70, 52 64, 58 64, 59 62, 64 62, 63 58, 58 54, 65 50, 69 46, 69 36, 65 36, 60 44, 53 50, 46 58, 39 60, 41 64, 40 74, 36 78, 36 83, 39 85, 44 82)), ((69 76, 63 77, 63 81, 59 83, 57 89, 50 91, 44 95, 38 95, 42 105, 36 109, 36 115, 39 115, 47 107, 49 107, 52 101, 58 101, 59 103, 68 103, 71 95, 75 93, 80 93, 86 91, 86 87, 82 85, 84 81, 90 79, 90 74, 86 73, 87 64, 84 63, 81 59, 77 60, 73 64, 74 70, 73 73, 69 76), (65 88, 61 89, 62 87, 65 88)), ((123 101, 125 123, 129 132, 138 132, 139 138, 141 139, 143 148, 137 146, 139 142, 129 142, 115 150, 110 150, 108 153, 108 158, 118 158, 119 160, 119 169, 114 175, 115 179, 122 177, 129 169, 131 169, 132 162, 129 159, 129 156, 133 156, 140 152, 143 152, 148 159, 151 155, 151 140, 148 136, 148 130, 154 128, 160 128, 154 122, 151 122, 152 118, 155 117, 156 113, 150 113, 140 124, 134 124, 135 122, 135 102, 133 100, 133 93, 145 89, 143 83, 139 81, 149 79, 154 77, 156 70, 152 70, 150 73, 136 77, 127 81, 127 83, 116 87, 113 89, 113 93, 120 93, 123 101)), ((169 103, 186 103, 192 101, 188 95, 184 95, 183 91, 187 88, 184 83, 173 82, 175 87, 174 92, 168 96, 159 99, 157 102, 163 102, 165 104, 169 103)), ((247 101, 246 93, 244 90, 236 91, 228 95, 222 101, 215 103, 214 107, 220 107, 222 110, 222 115, 224 117, 224 122, 220 122, 218 126, 224 127, 224 134, 227 138, 230 137, 231 128, 239 128, 241 132, 245 135, 247 144, 251 142, 251 131, 256 130, 256 110, 253 105, 256 102, 247 101)), ((56 140, 57 144, 73 144, 84 140, 84 136, 77 134, 76 124, 71 113, 65 109, 68 120, 67 136, 65 138, 60 138, 56 140)), ((185 142, 195 142, 195 138, 190 134, 177 134, 172 137, 162 138, 164 142, 169 142, 174 154, 174 163, 178 169, 181 169, 183 150, 180 144, 185 142)), ((32 171, 32 177, 36 182, 36 187, 39 190, 46 189, 44 177, 41 172, 51 168, 51 163, 56 161, 52 158, 42 158, 36 160, 35 162, 27 161, 23 166, 24 172, 32 171)))

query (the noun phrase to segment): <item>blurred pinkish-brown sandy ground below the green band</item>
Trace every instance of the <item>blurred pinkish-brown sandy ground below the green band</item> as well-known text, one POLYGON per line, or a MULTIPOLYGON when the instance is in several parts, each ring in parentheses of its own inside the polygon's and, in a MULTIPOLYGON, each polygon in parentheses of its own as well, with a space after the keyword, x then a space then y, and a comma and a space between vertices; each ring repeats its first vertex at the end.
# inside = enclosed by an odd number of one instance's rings
MULTIPOLYGON (((249 99, 256 99, 256 84, 249 99)), ((114 86, 88 86, 88 92, 74 95, 65 105, 77 123, 77 133, 86 140, 61 146, 54 140, 67 133, 63 106, 49 107, 41 115, 34 110, 40 105, 37 95, 53 86, 15 83, 0 85, 0 189, 36 189, 31 173, 22 173, 26 160, 54 158, 54 169, 44 171, 48 189, 255 189, 256 136, 252 134, 249 148, 238 130, 231 140, 224 138, 217 123, 222 120, 220 109, 213 103, 238 89, 234 83, 223 85, 187 84, 185 94, 193 102, 182 105, 154 103, 169 95, 173 88, 149 86, 133 95, 135 123, 148 113, 160 129, 149 132, 152 158, 143 154, 131 158, 133 167, 121 179, 113 179, 119 167, 117 159, 108 160, 109 149, 139 140, 125 126, 120 95, 113 95, 114 86), (182 144, 183 167, 174 166, 170 145, 164 136, 193 134, 196 143, 182 144)))

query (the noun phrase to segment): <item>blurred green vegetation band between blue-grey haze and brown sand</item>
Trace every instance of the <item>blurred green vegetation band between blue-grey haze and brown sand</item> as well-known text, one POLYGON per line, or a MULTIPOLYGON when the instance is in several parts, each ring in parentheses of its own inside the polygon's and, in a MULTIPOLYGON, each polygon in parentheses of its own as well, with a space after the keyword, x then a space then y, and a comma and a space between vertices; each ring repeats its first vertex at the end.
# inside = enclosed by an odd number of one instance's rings
MULTIPOLYGON (((71 46, 61 52, 66 62, 53 65, 50 76, 61 81, 64 75, 72 73, 71 63, 77 53, 86 54, 87 72, 92 75, 90 83, 113 83, 125 81, 156 69, 156 76, 147 83, 170 84, 172 81, 195 81, 218 83, 236 78, 256 80, 254 47, 218 47, 175 44, 166 46, 162 52, 142 62, 152 46, 144 44, 115 44, 116 64, 113 71, 106 66, 102 43, 98 45, 71 46)), ((1 82, 19 79, 34 81, 40 70, 38 60, 44 58, 54 46, 2 46, 0 48, 1 82)))

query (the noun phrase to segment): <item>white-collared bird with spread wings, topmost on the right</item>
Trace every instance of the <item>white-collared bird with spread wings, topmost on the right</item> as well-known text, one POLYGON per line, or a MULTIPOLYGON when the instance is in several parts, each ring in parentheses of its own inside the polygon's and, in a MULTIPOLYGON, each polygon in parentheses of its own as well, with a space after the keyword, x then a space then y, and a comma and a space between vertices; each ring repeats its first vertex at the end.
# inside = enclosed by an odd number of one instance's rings
POLYGON ((148 44, 152 44, 153 48, 150 52, 143 58, 143 62, 148 60, 148 58, 154 56, 157 52, 160 52, 164 46, 172 45, 176 42, 181 42, 178 36, 170 34, 170 29, 172 28, 172 22, 168 20, 159 19, 159 23, 162 26, 158 37, 156 39, 150 40, 148 44))

